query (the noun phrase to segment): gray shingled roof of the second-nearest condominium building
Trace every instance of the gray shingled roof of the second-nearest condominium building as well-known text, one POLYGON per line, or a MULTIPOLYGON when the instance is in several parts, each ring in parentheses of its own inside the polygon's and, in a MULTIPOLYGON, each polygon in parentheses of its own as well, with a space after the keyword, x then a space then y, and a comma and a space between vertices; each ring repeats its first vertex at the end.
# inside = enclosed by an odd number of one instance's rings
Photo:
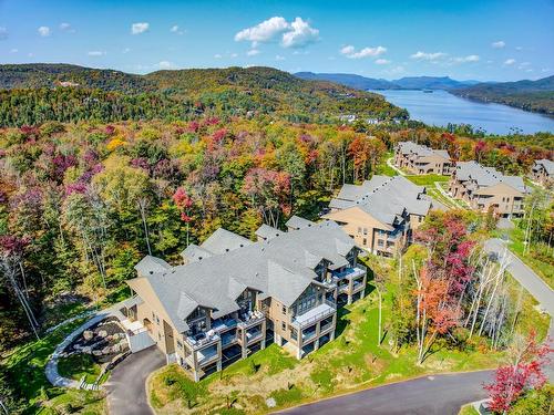
POLYGON ((417 186, 402 176, 376 175, 360 186, 342 186, 339 195, 331 199, 329 207, 347 209, 357 206, 379 221, 393 226, 404 210, 423 216, 429 212, 431 203, 421 197, 424 189, 423 186, 417 186))

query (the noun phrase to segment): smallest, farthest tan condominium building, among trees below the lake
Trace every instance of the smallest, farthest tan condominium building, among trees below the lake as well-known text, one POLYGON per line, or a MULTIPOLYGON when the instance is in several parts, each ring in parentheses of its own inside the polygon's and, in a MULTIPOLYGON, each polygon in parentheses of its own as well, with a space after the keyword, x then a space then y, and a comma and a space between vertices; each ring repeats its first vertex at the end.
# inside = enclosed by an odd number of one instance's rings
POLYGON ((416 175, 450 175, 453 166, 445 149, 432 149, 413 142, 397 144, 394 165, 416 175))

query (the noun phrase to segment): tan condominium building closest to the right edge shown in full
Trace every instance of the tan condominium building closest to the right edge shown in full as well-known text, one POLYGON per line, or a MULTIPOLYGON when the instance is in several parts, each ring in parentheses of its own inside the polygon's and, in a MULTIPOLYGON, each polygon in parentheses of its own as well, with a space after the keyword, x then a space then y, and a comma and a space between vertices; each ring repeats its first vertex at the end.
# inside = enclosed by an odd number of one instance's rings
POLYGON ((450 179, 452 197, 466 201, 472 209, 492 211, 500 217, 521 217, 527 189, 517 176, 505 176, 476 162, 459 162, 450 179))

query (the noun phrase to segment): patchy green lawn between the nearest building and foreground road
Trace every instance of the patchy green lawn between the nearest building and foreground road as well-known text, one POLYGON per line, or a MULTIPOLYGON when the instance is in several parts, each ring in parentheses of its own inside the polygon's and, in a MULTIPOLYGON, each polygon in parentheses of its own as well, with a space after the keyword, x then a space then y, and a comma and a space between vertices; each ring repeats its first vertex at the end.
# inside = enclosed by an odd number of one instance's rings
MULTIPOLYGON (((495 367, 502 361, 503 353, 489 350, 484 339, 475 339, 472 351, 437 347, 421 366, 413 346, 391 351, 387 328, 396 287, 391 280, 384 294, 380 346, 377 297, 371 293, 340 310, 336 340, 302 361, 273 344, 199 383, 175 364, 165 366, 151 378, 151 403, 158 414, 264 414, 428 373, 495 367), (267 404, 271 401, 274 407, 267 404)), ((526 294, 519 324, 535 326, 542 336, 547 330, 548 319, 533 310, 526 294)))

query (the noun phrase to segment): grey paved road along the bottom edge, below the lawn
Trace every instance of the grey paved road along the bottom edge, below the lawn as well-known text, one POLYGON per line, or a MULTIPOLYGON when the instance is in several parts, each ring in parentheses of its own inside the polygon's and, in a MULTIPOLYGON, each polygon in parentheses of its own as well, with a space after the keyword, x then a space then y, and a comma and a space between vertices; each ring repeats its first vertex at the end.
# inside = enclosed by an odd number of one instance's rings
POLYGON ((486 397, 482 384, 492 371, 434 375, 319 401, 283 412, 287 415, 455 415, 468 402, 486 397))

